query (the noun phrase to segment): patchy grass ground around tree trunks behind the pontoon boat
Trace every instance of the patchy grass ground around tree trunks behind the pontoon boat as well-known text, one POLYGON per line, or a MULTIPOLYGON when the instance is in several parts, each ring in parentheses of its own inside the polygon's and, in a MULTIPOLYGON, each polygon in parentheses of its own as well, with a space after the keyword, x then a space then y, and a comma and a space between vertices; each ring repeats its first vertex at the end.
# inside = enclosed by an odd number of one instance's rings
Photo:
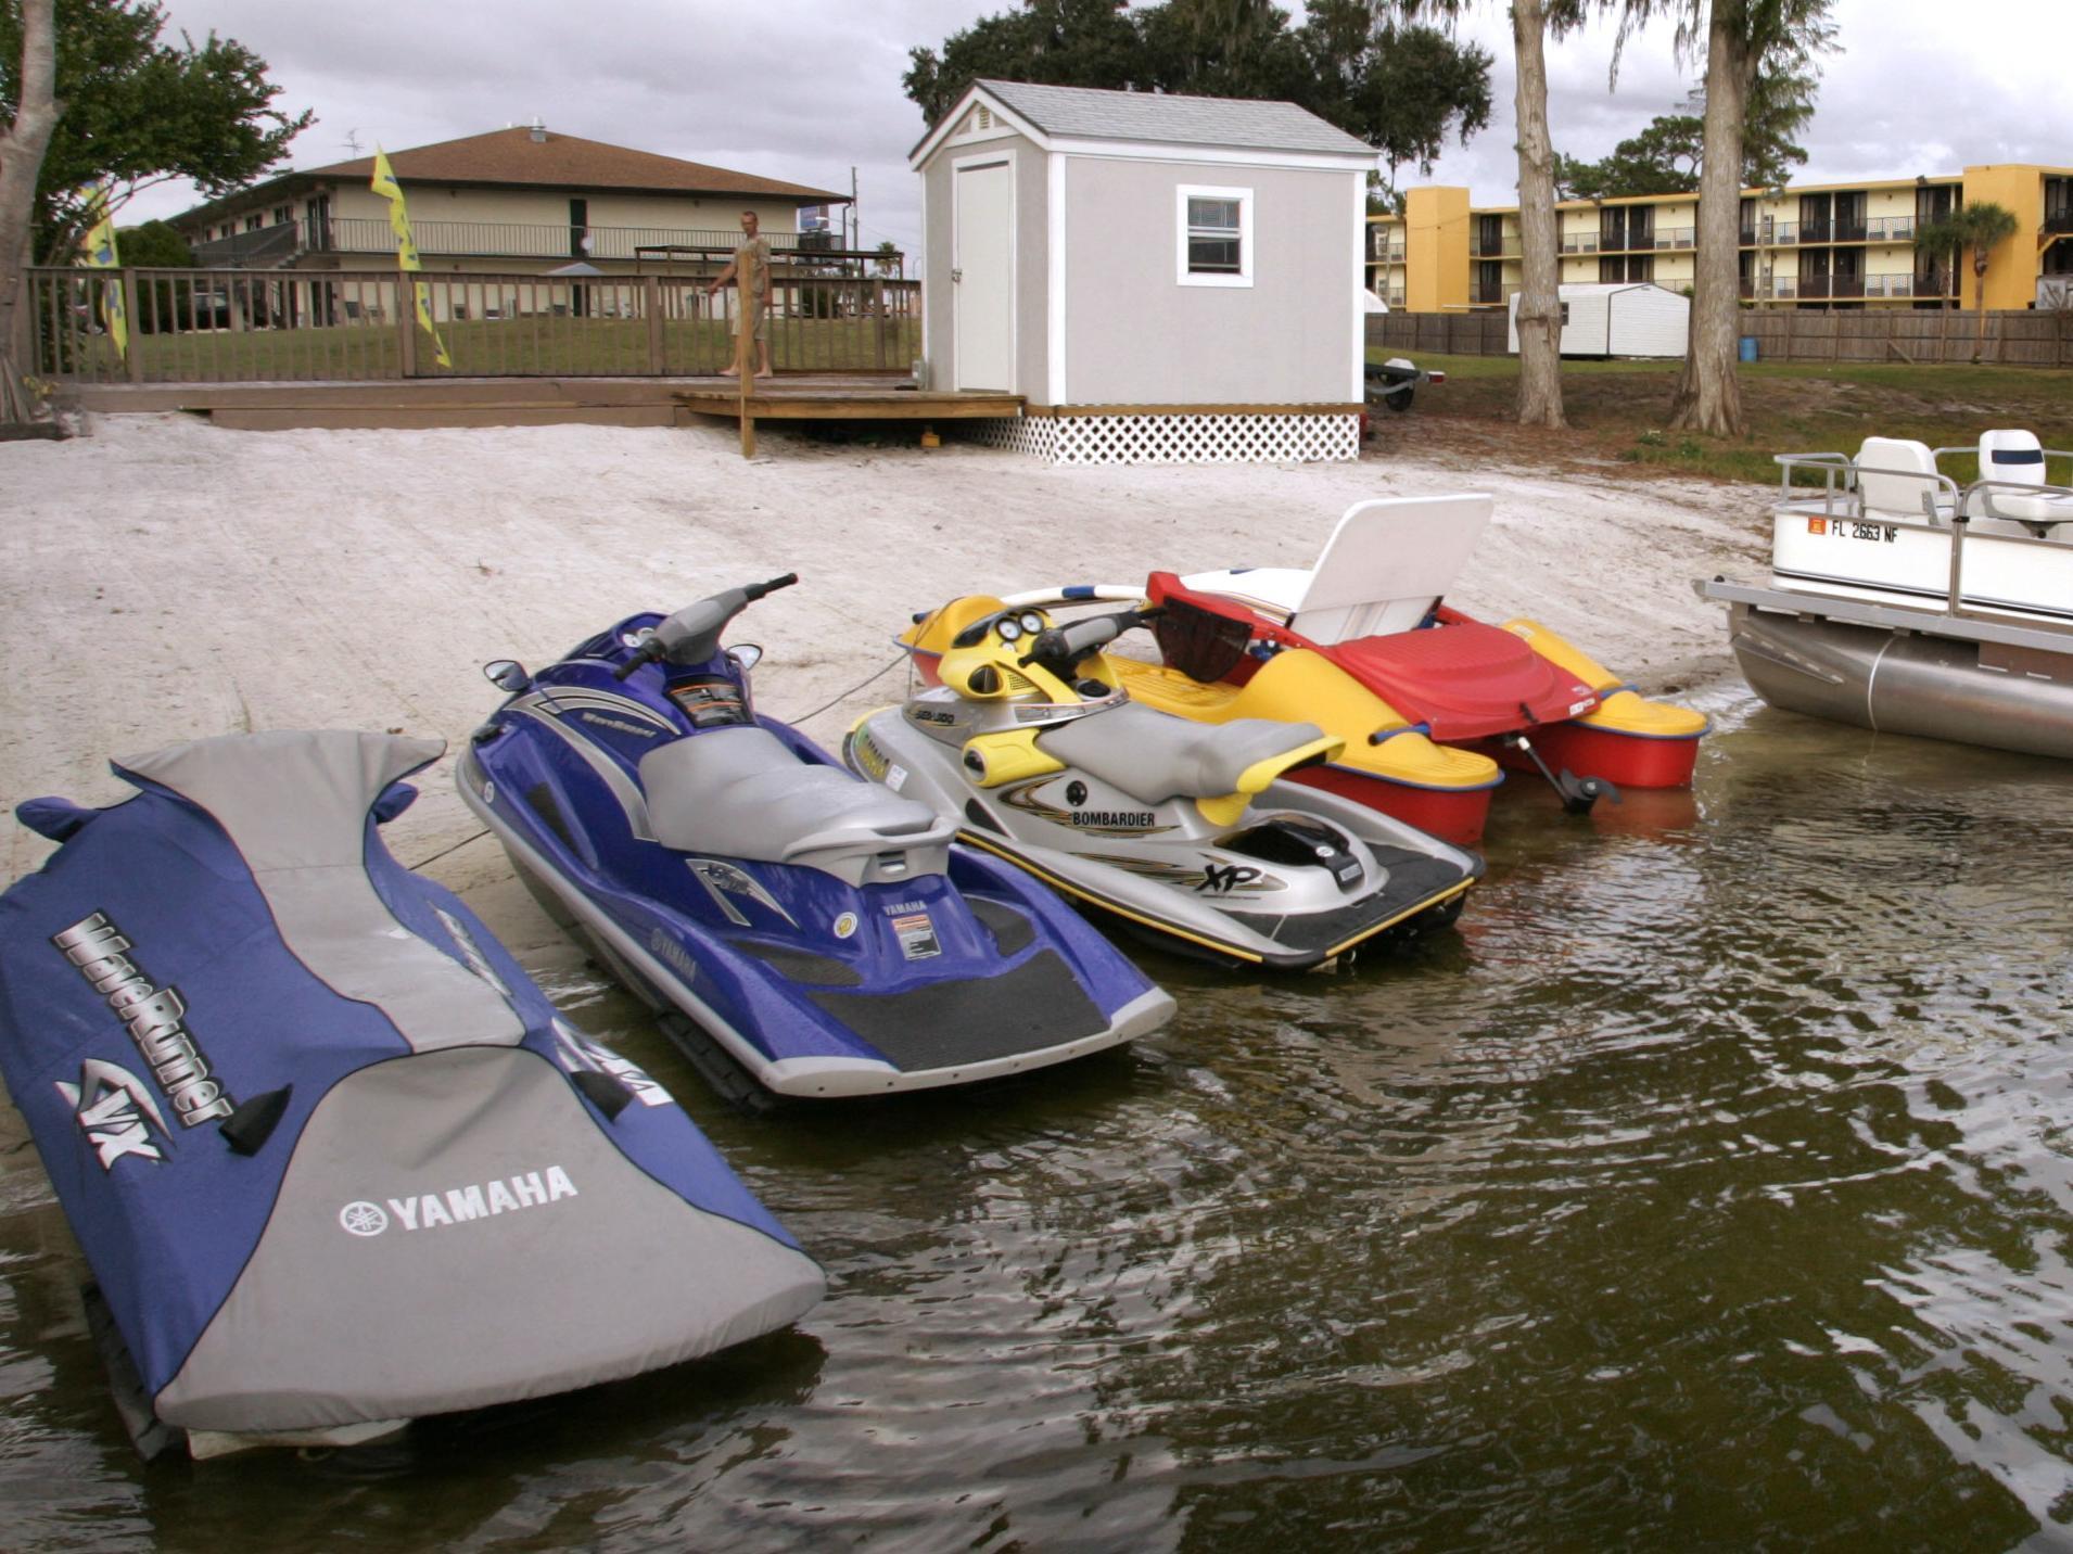
MULTIPOLYGON (((1370 348, 1381 361, 1401 352, 1370 348)), ((1513 421, 1513 356, 1414 356, 1447 381, 1418 392, 1405 445, 1430 441, 1507 466, 1627 464, 1640 470, 1777 481, 1772 454, 1855 454, 1866 437, 1918 437, 1930 448, 1973 445, 1988 427, 2027 427, 2046 448, 2073 448, 2073 373, 2038 367, 1905 367, 1901 363, 1750 363, 1739 369, 1750 435, 1667 431, 1677 363, 1565 361, 1569 431, 1513 421)), ((1957 481, 1976 460, 1944 460, 1957 481)), ((2073 483, 2052 460, 2050 479, 2073 483)))

